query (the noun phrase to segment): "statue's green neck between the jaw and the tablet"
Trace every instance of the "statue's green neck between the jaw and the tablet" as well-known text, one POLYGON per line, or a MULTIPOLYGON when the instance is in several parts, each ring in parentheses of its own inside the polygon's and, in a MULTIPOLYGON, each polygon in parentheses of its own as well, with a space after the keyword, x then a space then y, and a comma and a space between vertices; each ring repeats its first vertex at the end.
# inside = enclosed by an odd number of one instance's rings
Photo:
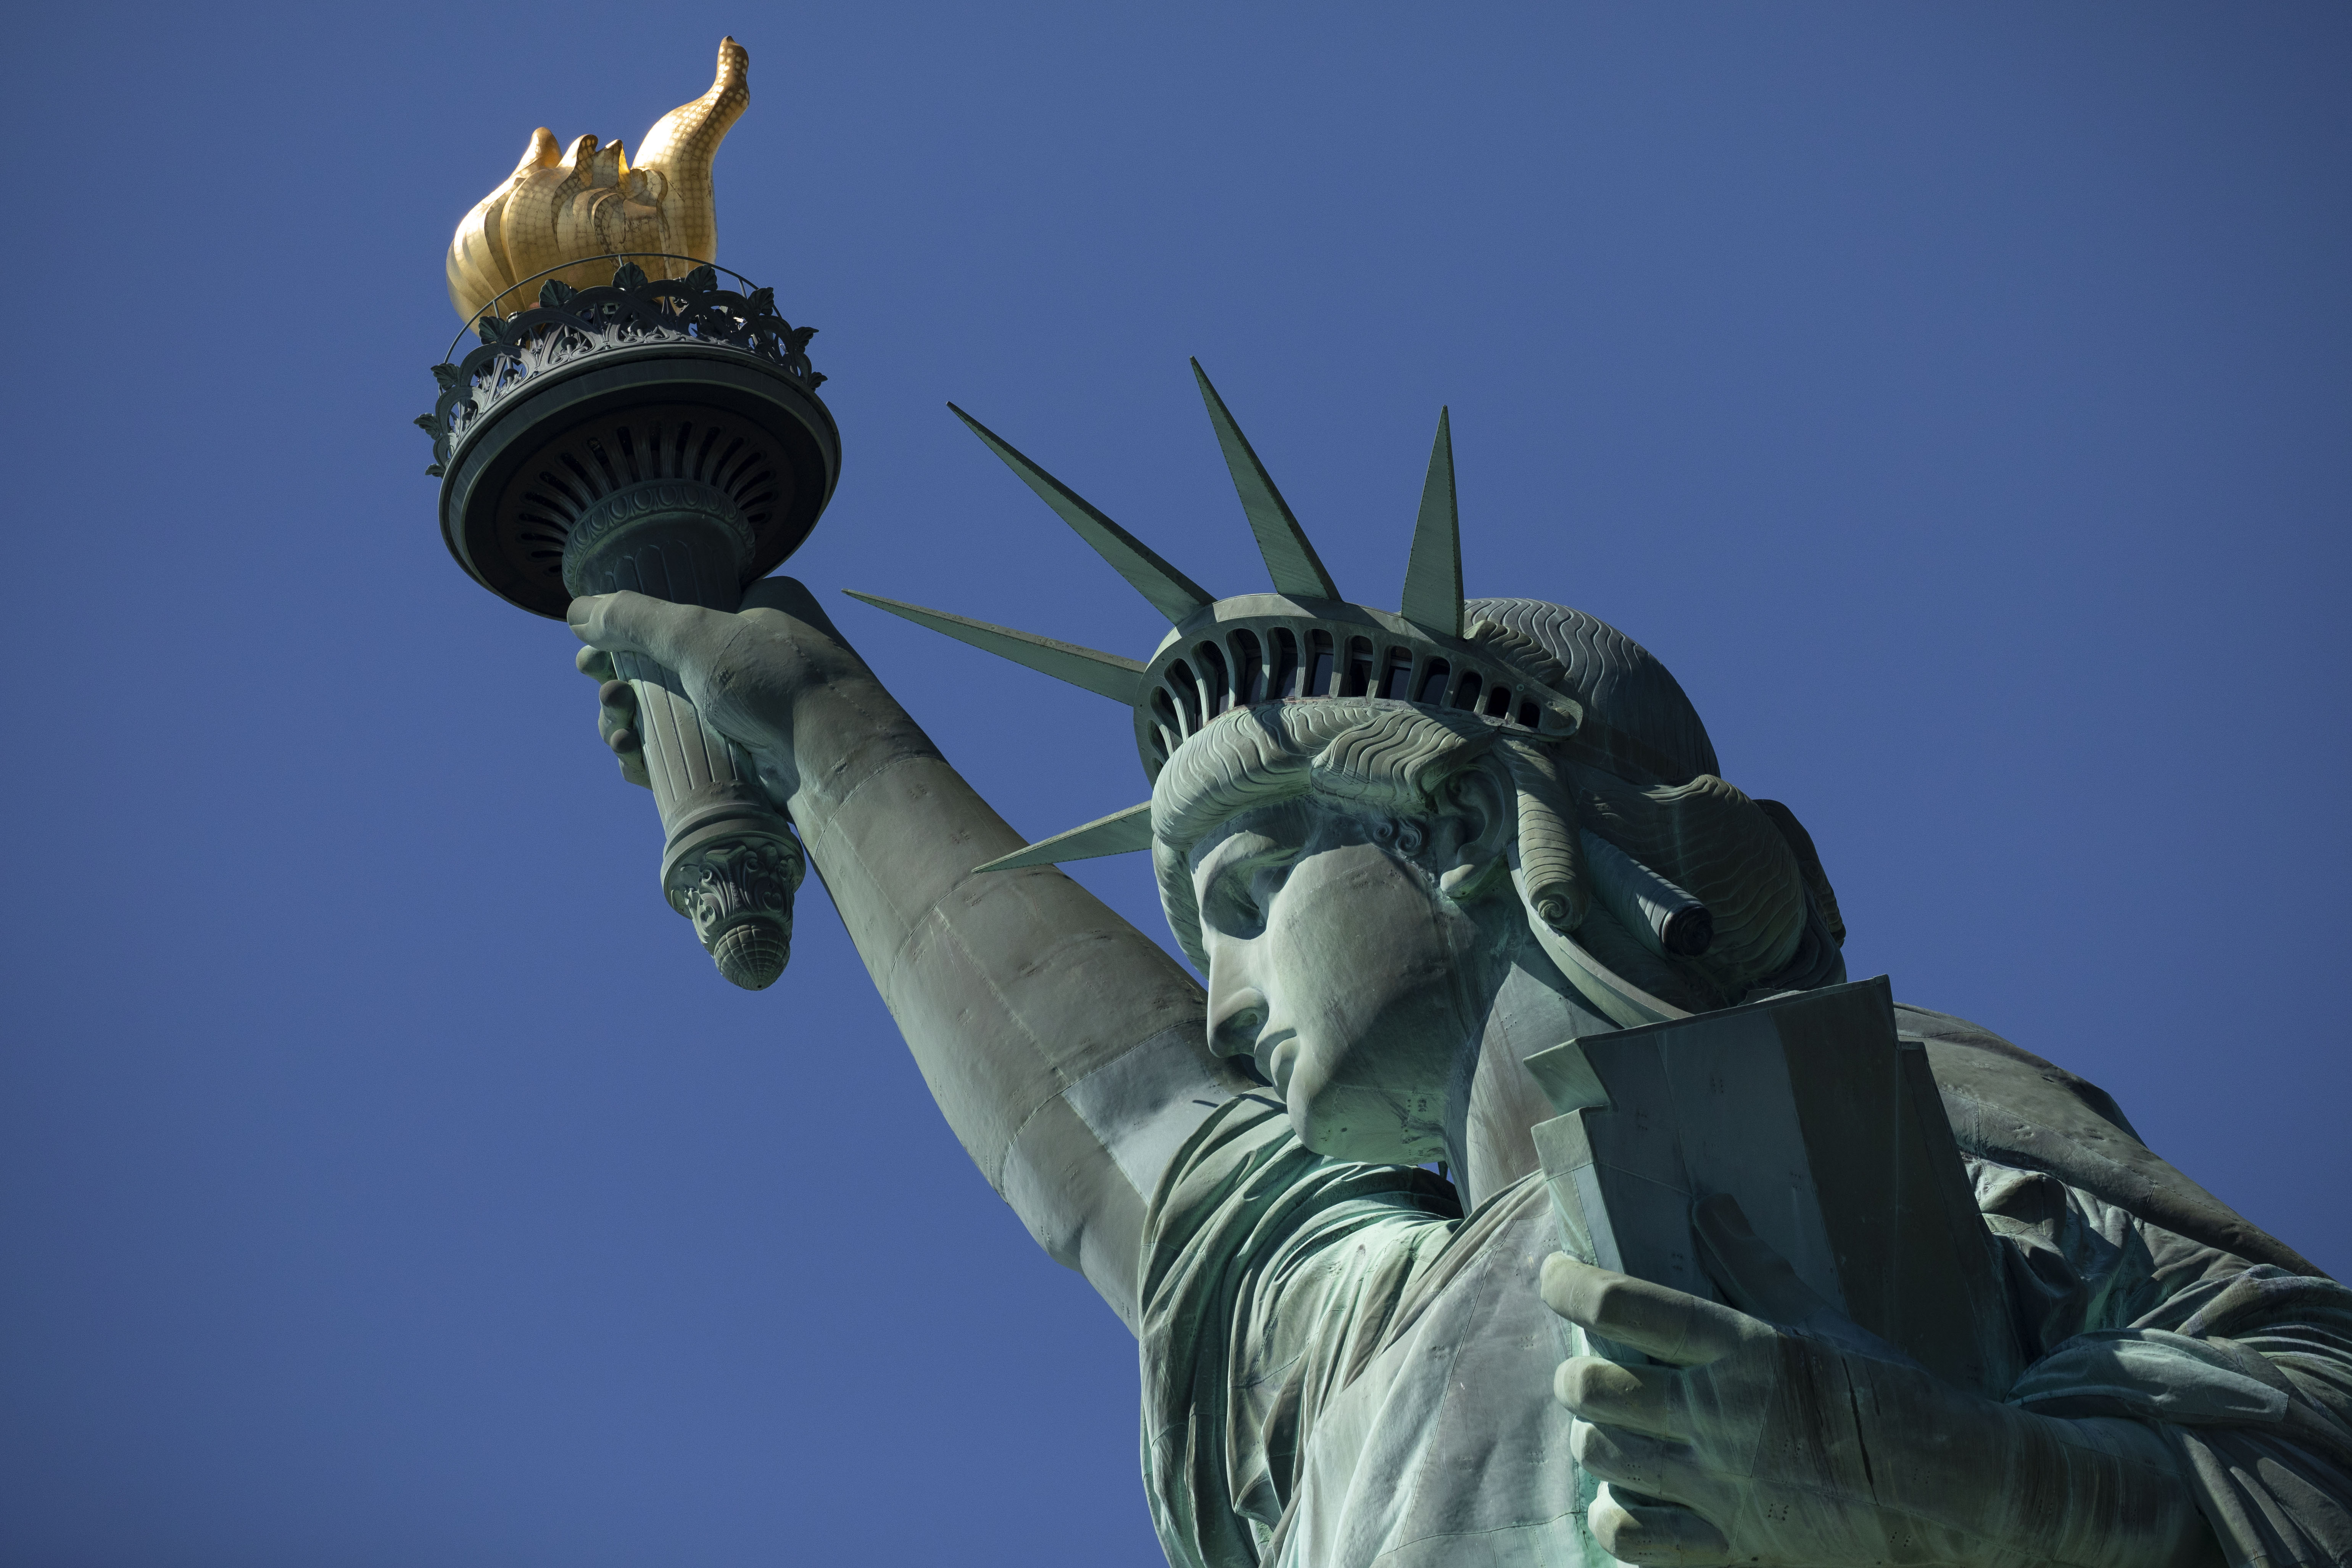
POLYGON ((1557 1112, 1519 1063, 1545 1046, 1613 1027, 1583 1004, 1543 947, 1519 943, 1486 1009, 1477 1058, 1465 1063, 1449 1095, 1446 1145, 1463 1208, 1484 1204, 1541 1164, 1529 1128, 1557 1112))

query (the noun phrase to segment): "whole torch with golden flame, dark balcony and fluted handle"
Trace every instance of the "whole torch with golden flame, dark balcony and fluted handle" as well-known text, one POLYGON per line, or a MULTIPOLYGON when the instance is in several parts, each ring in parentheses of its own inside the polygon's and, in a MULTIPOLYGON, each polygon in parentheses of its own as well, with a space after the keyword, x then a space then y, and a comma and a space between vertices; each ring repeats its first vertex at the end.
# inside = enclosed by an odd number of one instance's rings
MULTIPOLYGON (((449 247, 449 294, 480 343, 433 367, 440 400, 416 423, 449 552, 517 609, 562 621, 574 597, 628 588, 734 611, 833 498, 840 433, 816 397, 814 329, 708 261, 710 155, 748 101, 743 71, 724 40, 713 89, 647 134, 635 169, 619 141, 581 136, 555 160, 536 132, 449 247), (633 237, 677 249, 621 249, 633 237)), ((663 898, 722 976, 762 990, 790 957, 800 842, 673 670, 614 665, 661 811, 663 898)))

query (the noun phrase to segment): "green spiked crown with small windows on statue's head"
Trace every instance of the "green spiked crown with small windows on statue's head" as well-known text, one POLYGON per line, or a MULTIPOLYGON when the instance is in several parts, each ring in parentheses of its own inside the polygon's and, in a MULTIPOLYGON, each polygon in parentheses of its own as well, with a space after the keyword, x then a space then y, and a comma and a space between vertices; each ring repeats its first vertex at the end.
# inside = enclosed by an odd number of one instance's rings
MULTIPOLYGON (((1461 512, 1454 494, 1451 411, 1439 409, 1421 512, 1395 611, 1341 597, 1315 543, 1216 395, 1200 360, 1192 362, 1216 444, 1232 473, 1242 512, 1256 534, 1272 592, 1216 597, 1164 562, 1150 545, 1105 517, 1011 442, 948 404, 1007 468, 1068 522, 1110 567, 1169 621, 1169 635, 1148 661, 1087 649, 1035 632, 1016 632, 941 609, 880 595, 851 597, 946 632, 1056 679, 1084 686, 1134 710, 1136 752, 1145 778, 1192 736, 1232 708, 1277 701, 1388 698, 1451 710, 1503 731, 1543 741, 1564 759, 1606 769, 1632 783, 1686 783, 1712 771, 1700 731, 1703 766, 1675 755, 1656 736, 1604 722, 1595 693, 1526 630, 1477 614, 1463 597, 1461 512)), ((1677 691, 1679 696, 1679 691, 1677 691)), ((1148 849, 1150 802, 1040 839, 978 870, 1054 865, 1148 849)))

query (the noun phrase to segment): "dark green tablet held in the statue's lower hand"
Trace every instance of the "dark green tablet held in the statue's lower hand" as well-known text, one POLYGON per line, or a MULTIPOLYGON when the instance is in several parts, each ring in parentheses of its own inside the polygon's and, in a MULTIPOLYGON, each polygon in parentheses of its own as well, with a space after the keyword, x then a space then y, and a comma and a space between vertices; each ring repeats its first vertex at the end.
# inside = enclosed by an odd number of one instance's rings
POLYGON ((1571 1039, 1526 1058, 1569 1251, 1722 1300, 1691 1206, 1731 1194, 1797 1276, 1929 1371, 2018 1375, 1999 1258, 1886 978, 1571 1039))

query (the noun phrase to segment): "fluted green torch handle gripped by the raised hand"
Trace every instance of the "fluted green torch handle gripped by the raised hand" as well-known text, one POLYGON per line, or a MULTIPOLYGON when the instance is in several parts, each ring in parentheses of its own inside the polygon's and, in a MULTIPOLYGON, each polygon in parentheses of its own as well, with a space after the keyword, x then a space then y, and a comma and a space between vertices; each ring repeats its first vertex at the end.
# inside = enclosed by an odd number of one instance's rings
MULTIPOLYGON (((576 529, 567 583, 724 611, 743 602, 731 529, 659 508, 626 524, 590 538, 576 529)), ((614 672, 637 698, 644 771, 666 837, 661 893, 694 922, 722 976, 762 990, 793 954, 793 891, 807 872, 800 839, 767 802, 750 757, 703 719, 675 670, 644 654, 614 654, 614 672)))

